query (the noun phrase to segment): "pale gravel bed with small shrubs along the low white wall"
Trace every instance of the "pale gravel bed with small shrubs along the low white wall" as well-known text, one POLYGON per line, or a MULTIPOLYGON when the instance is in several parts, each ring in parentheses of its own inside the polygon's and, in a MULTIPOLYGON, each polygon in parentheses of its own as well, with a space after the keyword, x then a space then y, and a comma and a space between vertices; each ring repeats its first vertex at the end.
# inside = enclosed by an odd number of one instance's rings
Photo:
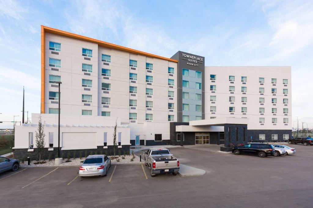
MULTIPOLYGON (((123 155, 121 155, 120 157, 118 155, 116 155, 115 157, 118 157, 116 159, 111 159, 111 164, 132 164, 132 163, 143 163, 144 160, 141 158, 141 162, 140 162, 140 158, 136 155, 134 161, 131 161, 131 158, 133 157, 132 155, 126 155, 125 159, 122 159, 123 155), (119 162, 117 162, 117 160, 120 160, 119 162)), ((109 156, 109 157, 113 157, 113 156, 109 156)), ((85 157, 80 158, 71 158, 71 162, 65 162, 67 159, 63 159, 63 163, 59 166, 69 166, 69 165, 77 165, 77 166, 81 166, 81 164, 83 163, 83 161, 85 160, 85 157)), ((45 161, 46 163, 44 164, 34 164, 35 162, 37 163, 38 161, 31 161, 30 165, 27 165, 27 161, 25 161, 24 163, 22 163, 22 161, 20 161, 20 166, 21 167, 41 167, 41 166, 58 166, 54 164, 54 159, 49 161, 49 160, 42 160, 45 161)))

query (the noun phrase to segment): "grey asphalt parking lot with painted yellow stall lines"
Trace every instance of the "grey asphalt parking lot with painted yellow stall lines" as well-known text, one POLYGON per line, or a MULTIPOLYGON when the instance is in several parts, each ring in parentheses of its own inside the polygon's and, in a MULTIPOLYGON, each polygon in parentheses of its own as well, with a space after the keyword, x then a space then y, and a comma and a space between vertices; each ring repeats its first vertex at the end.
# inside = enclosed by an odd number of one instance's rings
MULTIPOLYGON (((260 158, 205 146, 172 148, 203 176, 150 176, 145 165, 111 165, 106 177, 80 178, 78 167, 20 168, 0 174, 2 207, 311 207, 313 147, 260 158), (114 172, 114 173, 113 173, 114 172)), ((139 152, 140 153, 140 152, 139 152)))

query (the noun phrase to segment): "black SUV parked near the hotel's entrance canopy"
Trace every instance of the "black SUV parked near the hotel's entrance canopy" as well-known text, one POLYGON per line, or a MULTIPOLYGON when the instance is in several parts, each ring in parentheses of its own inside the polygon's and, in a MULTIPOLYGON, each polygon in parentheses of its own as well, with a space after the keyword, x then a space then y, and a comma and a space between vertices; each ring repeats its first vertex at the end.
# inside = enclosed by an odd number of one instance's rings
POLYGON ((248 143, 243 146, 233 147, 232 151, 235 155, 250 154, 258 155, 259 157, 266 157, 268 155, 275 155, 273 145, 264 143, 248 143))

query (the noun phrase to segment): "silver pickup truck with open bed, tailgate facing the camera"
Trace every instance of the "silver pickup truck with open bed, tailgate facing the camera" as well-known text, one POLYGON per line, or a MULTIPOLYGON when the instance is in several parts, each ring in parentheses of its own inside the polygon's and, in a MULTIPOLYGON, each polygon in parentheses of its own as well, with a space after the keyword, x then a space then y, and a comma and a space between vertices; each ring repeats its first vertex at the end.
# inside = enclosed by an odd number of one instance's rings
POLYGON ((151 177, 163 173, 173 173, 175 176, 179 171, 178 159, 166 148, 150 148, 144 155, 145 165, 150 168, 151 177))

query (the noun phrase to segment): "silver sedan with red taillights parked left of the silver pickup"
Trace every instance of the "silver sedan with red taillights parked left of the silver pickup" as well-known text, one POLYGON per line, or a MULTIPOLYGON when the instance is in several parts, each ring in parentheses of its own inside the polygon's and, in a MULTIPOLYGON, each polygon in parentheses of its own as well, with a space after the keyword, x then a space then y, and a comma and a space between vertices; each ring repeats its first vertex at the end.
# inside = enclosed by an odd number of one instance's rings
POLYGON ((106 176, 111 160, 106 155, 89 155, 79 168, 80 177, 106 176))

